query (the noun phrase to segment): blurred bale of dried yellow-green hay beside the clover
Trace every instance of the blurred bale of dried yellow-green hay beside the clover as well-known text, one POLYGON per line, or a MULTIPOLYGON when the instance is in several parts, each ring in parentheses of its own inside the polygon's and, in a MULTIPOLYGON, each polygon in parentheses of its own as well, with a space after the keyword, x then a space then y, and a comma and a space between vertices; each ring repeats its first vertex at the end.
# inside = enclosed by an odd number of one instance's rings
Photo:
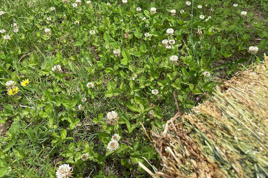
POLYGON ((268 58, 213 96, 151 131, 161 170, 153 177, 268 177, 268 58))

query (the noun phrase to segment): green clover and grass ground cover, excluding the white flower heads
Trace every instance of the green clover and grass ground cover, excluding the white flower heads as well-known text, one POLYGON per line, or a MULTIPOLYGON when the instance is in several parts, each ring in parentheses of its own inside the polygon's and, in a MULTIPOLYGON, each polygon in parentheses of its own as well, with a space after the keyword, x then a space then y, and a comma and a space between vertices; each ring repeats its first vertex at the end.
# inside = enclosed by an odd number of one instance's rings
POLYGON ((109 6, 82 1, 76 8, 73 3, 1 1, 0 122, 12 124, 0 137, 0 177, 52 178, 65 163, 74 177, 149 177, 137 163, 149 167, 146 158, 157 165, 159 156, 140 123, 147 130, 161 128, 177 112, 173 92, 181 111, 188 112, 208 98, 221 74, 228 79, 239 64, 260 63, 267 52, 264 0, 235 2, 238 7, 229 0, 191 6, 180 0, 109 6), (172 36, 168 28, 174 29, 172 36), (164 39, 175 40, 171 49, 161 44, 164 39), (258 52, 249 53, 249 46, 258 52), (114 56, 116 49, 120 56, 114 56), (172 55, 177 63, 170 62, 172 55), (53 72, 57 64, 62 71, 53 72), (29 85, 21 86, 25 79, 29 85), (14 96, 7 94, 9 80, 19 88, 14 96), (110 111, 118 114, 115 125, 107 124, 110 111), (121 139, 111 152, 107 145, 114 133, 121 139), (83 161, 86 153, 89 159, 83 161))

